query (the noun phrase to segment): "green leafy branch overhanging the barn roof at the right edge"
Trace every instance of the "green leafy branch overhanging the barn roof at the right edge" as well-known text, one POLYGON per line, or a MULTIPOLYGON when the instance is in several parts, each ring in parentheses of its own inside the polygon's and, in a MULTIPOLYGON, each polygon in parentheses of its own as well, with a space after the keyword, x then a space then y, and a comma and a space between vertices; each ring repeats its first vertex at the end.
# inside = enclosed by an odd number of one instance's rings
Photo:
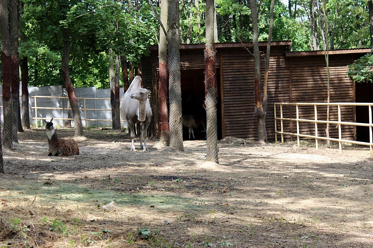
POLYGON ((348 65, 348 77, 356 83, 373 83, 373 54, 367 53, 348 65))

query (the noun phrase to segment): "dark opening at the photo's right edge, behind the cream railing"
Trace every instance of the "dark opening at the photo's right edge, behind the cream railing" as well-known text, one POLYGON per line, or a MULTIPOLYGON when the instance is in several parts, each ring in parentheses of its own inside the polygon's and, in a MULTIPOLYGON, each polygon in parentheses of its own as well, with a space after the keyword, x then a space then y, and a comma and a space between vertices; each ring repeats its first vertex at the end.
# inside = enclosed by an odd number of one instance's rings
MULTIPOLYGON (((373 102, 373 85, 369 83, 356 83, 356 102, 373 102)), ((356 122, 369 123, 368 106, 356 106, 356 122)), ((361 142, 369 142, 369 127, 356 126, 356 139, 361 142)))

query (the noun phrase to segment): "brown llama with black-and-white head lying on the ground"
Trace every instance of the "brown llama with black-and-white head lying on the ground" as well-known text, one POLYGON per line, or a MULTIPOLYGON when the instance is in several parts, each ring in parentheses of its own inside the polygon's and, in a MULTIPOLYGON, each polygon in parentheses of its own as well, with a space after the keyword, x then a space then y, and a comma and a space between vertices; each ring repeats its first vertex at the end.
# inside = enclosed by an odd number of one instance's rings
POLYGON ((52 120, 53 118, 49 122, 44 120, 49 144, 48 156, 79 155, 79 147, 75 140, 59 138, 54 130, 52 120))

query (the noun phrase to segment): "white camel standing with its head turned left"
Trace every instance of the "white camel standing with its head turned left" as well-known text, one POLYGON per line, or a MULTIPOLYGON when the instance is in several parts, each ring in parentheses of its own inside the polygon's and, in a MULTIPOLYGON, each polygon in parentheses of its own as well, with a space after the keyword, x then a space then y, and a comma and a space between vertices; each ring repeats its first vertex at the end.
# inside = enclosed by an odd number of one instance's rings
POLYGON ((141 77, 136 76, 120 103, 120 115, 123 120, 127 120, 128 128, 131 129, 132 144, 130 150, 132 151, 135 151, 134 124, 138 123, 140 123, 140 146, 143 148, 142 151, 149 151, 146 144, 148 126, 152 116, 148 99, 149 94, 150 90, 141 87, 141 77), (144 145, 142 141, 144 141, 144 145))

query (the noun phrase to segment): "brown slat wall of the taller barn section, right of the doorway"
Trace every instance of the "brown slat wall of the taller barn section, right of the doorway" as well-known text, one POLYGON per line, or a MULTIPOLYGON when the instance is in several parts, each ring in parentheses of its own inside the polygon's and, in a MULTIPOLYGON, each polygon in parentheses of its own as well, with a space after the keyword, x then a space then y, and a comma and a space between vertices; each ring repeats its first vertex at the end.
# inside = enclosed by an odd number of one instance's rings
MULTIPOLYGON (((269 141, 275 139, 273 103, 289 102, 289 65, 283 57, 284 47, 271 48, 268 75, 266 129, 269 141)), ((257 139, 254 116, 254 58, 244 49, 231 48, 223 54, 223 90, 225 136, 257 139)), ((265 59, 261 59, 264 80, 265 59)), ((263 94, 263 89, 262 94, 263 94)))

